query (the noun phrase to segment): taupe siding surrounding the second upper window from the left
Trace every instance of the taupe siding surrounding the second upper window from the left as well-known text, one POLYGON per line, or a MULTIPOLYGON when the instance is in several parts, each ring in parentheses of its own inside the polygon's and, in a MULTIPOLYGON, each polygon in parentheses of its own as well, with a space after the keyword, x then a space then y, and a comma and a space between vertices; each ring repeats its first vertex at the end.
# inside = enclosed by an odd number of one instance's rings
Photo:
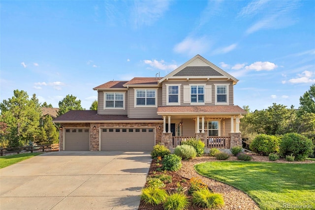
MULTIPOLYGON (((150 89, 150 88, 136 88, 136 89, 150 89)), ((134 107, 134 95, 135 90, 134 88, 129 88, 129 118, 162 118, 160 115, 157 114, 158 106, 162 105, 162 88, 159 87, 157 91, 157 98, 156 102, 158 103, 157 107, 134 107)))

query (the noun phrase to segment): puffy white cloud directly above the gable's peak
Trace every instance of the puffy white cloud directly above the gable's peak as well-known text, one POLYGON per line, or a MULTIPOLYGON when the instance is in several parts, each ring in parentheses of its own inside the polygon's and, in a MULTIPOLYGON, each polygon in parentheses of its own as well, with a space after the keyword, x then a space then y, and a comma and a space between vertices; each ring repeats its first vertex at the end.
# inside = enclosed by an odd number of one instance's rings
POLYGON ((210 48, 209 39, 206 36, 199 38, 186 37, 182 42, 175 45, 173 50, 176 53, 188 54, 194 56, 205 53, 210 48))

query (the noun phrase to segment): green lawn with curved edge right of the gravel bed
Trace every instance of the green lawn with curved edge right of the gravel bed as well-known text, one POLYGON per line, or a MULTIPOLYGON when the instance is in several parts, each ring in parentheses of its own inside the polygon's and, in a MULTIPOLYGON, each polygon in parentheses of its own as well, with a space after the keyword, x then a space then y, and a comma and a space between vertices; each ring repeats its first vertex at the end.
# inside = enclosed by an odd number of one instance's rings
POLYGON ((217 161, 195 170, 242 190, 262 210, 287 209, 285 204, 315 209, 315 164, 217 161))

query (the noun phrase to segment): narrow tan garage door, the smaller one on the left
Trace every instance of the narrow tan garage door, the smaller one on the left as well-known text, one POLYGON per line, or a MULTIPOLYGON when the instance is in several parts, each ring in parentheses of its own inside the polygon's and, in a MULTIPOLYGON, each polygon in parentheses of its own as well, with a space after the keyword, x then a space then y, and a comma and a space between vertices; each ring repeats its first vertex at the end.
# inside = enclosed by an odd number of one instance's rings
POLYGON ((67 128, 64 129, 64 150, 89 151, 90 129, 67 128))

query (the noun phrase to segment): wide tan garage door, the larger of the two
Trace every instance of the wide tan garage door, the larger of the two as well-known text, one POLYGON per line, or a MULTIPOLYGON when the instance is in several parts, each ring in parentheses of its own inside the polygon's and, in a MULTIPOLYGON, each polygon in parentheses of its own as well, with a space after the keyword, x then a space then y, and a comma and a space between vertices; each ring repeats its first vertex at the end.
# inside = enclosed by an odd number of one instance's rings
POLYGON ((154 128, 101 128, 102 151, 152 151, 154 128))

